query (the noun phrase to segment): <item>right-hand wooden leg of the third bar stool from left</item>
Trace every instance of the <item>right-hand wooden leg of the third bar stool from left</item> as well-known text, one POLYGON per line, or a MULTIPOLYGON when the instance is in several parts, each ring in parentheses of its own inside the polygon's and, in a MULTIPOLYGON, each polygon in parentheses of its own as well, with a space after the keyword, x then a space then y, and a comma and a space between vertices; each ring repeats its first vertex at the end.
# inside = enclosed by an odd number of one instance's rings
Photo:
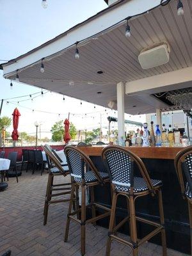
MULTIPOLYGON (((159 214, 160 214, 160 221, 161 225, 164 227, 164 212, 163 212, 163 200, 162 200, 162 193, 161 189, 158 190, 158 197, 159 197, 159 214)), ((161 241, 162 241, 162 247, 163 247, 163 256, 167 255, 166 252, 166 234, 165 230, 161 230, 161 241)))

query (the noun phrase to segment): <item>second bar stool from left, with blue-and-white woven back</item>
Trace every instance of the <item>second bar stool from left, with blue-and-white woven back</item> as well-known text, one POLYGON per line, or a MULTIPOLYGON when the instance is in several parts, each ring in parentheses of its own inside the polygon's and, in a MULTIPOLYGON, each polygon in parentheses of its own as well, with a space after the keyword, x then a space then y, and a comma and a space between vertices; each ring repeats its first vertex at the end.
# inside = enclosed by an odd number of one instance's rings
POLYGON ((99 184, 104 185, 109 182, 108 173, 98 172, 92 163, 91 159, 86 156, 81 150, 76 147, 65 147, 65 155, 67 157, 68 168, 72 177, 72 191, 70 196, 70 204, 68 206, 67 224, 65 228, 65 242, 68 239, 68 230, 70 220, 81 225, 81 255, 85 253, 85 225, 87 223, 95 224, 95 221, 105 218, 110 215, 110 209, 98 204, 94 200, 94 186, 99 184), (81 187, 81 207, 79 208, 78 190, 81 187), (86 205, 86 189, 90 189, 90 205, 86 205), (72 212, 72 200, 76 190, 76 207, 77 211, 72 212), (86 207, 91 207, 92 218, 86 220, 86 207), (106 210, 106 212, 96 216, 95 208, 106 210), (81 213, 81 219, 79 214, 81 213), (77 218, 74 215, 77 214, 77 218))

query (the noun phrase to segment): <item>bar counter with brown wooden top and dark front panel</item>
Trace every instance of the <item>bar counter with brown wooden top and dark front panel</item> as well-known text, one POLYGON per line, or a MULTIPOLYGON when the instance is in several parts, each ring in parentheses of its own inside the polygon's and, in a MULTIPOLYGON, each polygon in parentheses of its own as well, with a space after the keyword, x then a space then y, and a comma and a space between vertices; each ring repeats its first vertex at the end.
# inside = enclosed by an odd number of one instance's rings
MULTIPOLYGON (((101 152, 105 146, 78 147, 90 156, 98 170, 106 172, 102 163, 101 152)), ((163 181, 163 207, 165 218, 166 241, 168 248, 189 253, 189 214, 188 205, 182 199, 180 186, 174 168, 174 159, 182 147, 127 147, 134 154, 141 157, 151 179, 163 181)), ((140 176, 137 166, 134 166, 134 175, 140 176)), ((109 186, 98 186, 95 188, 95 199, 100 204, 111 205, 111 194, 109 186)), ((125 198, 118 199, 116 209, 116 223, 127 214, 125 198)), ((158 202, 152 196, 145 196, 136 200, 136 214, 148 220, 157 221, 159 216, 158 202)), ((108 228, 109 220, 97 221, 97 225, 108 228)), ((151 230, 147 225, 138 223, 138 237, 141 238, 151 230)), ((120 232, 127 234, 129 225, 122 227, 120 232)), ((156 236, 150 240, 152 243, 161 244, 161 237, 156 236)))

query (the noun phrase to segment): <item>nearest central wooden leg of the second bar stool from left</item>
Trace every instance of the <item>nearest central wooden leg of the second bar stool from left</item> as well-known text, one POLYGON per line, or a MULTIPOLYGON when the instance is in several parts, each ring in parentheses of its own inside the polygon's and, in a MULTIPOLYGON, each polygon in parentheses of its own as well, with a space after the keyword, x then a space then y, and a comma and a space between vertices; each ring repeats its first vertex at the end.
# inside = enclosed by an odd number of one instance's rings
POLYGON ((81 255, 85 253, 86 188, 81 186, 81 255))

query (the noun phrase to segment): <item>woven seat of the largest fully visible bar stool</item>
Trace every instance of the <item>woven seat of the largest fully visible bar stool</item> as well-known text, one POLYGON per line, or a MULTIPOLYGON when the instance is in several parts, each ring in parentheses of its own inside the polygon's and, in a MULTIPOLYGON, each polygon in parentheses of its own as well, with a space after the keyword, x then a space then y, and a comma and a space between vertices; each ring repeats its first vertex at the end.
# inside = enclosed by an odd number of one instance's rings
MULTIPOLYGON (((162 181, 161 180, 153 180, 151 179, 151 182, 153 184, 154 187, 156 186, 162 186, 162 181)), ((116 185, 115 184, 115 189, 118 191, 126 191, 126 192, 130 192, 130 186, 129 185, 124 185, 124 186, 120 186, 120 185, 116 185)), ((141 191, 147 191, 147 183, 145 182, 145 180, 143 178, 140 177, 134 177, 134 185, 133 185, 133 192, 137 193, 137 192, 141 192, 141 191)))

